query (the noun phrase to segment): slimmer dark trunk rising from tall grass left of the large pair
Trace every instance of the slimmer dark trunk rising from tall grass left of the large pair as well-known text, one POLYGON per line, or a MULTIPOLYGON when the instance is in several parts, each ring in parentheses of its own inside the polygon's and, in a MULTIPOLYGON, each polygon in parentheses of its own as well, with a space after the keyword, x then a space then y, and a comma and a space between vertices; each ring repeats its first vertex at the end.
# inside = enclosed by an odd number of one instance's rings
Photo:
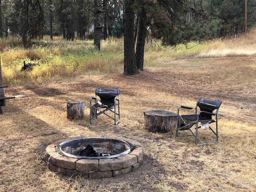
POLYGON ((94 46, 100 50, 100 2, 95 0, 95 10, 94 10, 94 46))

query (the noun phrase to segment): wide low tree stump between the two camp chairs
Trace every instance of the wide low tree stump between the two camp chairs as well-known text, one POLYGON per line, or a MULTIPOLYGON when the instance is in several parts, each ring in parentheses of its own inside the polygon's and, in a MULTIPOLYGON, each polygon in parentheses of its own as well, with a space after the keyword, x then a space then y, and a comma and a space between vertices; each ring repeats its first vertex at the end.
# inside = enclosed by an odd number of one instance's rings
POLYGON ((145 128, 149 132, 174 134, 177 127, 177 114, 168 110, 144 111, 145 128))

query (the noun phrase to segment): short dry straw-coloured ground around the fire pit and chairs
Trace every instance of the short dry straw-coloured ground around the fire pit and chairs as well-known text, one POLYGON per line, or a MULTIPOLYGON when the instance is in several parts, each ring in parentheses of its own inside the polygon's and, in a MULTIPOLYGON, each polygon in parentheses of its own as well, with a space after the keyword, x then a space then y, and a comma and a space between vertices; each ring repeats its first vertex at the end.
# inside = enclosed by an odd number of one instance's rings
MULTIPOLYGON (((11 85, 0 116, 1 191, 256 191, 256 58, 174 60, 136 76, 87 73, 52 82, 11 85), (120 88, 121 121, 89 122, 95 88, 120 88), (144 110, 177 112, 203 96, 222 101, 219 143, 196 146, 194 138, 151 133, 144 110), (66 102, 85 101, 85 118, 66 118, 66 102), (144 146, 142 166, 114 178, 69 178, 44 164, 49 144, 76 136, 123 136, 144 146)), ((204 130, 205 131, 205 130, 204 130)), ((207 130, 201 137, 208 138, 207 130)))

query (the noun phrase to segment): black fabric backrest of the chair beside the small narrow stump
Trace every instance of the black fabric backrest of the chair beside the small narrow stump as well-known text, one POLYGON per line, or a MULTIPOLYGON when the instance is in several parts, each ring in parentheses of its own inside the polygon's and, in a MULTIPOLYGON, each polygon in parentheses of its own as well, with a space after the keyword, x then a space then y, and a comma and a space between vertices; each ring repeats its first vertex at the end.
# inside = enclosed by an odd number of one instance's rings
POLYGON ((101 89, 97 88, 95 94, 100 97, 100 102, 107 106, 114 105, 114 99, 120 93, 119 89, 101 89))

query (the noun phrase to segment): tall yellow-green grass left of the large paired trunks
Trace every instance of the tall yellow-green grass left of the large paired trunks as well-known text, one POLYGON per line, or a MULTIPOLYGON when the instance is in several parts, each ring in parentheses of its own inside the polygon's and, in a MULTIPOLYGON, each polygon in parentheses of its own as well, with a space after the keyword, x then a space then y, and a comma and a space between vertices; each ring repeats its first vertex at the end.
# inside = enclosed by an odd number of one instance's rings
POLYGON ((121 70, 123 43, 114 38, 102 41, 102 51, 95 50, 92 41, 67 42, 41 40, 29 49, 6 47, 0 54, 4 83, 49 80, 76 76, 85 71, 111 73, 121 70), (20 71, 23 62, 37 66, 32 71, 20 71))

